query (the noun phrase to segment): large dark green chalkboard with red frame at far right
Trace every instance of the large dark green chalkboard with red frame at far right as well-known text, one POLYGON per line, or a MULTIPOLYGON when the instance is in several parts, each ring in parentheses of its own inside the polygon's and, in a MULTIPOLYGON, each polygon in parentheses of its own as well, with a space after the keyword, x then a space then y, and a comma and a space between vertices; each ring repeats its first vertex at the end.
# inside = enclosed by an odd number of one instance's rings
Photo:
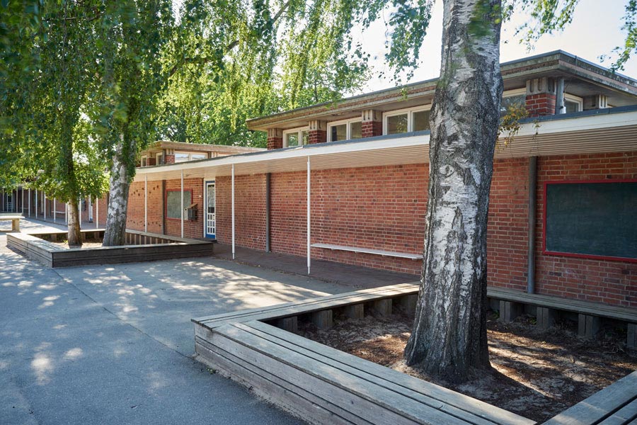
POLYGON ((544 250, 637 259, 637 181, 546 183, 544 250))

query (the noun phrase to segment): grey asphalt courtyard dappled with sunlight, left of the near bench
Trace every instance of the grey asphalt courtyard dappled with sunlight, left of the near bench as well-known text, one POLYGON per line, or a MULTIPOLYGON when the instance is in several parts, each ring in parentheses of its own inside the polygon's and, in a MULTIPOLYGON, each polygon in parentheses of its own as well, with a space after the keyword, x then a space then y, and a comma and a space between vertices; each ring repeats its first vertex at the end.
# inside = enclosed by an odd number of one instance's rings
POLYGON ((299 424, 194 361, 190 318, 350 290, 216 258, 53 270, 0 232, 0 424, 299 424))

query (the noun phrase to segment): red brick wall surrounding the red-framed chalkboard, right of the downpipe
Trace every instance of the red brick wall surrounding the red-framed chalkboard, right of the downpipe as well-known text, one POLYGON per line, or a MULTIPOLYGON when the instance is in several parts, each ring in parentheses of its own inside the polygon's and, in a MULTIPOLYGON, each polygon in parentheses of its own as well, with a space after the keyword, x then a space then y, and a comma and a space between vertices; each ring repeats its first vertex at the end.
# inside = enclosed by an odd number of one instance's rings
POLYGON ((538 158, 538 293, 637 307, 637 263, 541 254, 545 181, 636 178, 637 152, 538 158))

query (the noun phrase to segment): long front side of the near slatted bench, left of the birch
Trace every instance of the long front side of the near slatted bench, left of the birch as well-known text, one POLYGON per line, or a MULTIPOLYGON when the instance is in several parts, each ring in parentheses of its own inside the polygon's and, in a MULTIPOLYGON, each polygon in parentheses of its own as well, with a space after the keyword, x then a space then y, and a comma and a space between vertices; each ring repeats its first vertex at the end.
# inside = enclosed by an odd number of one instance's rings
POLYGON ((259 321, 195 338, 197 360, 314 424, 534 421, 259 321))

